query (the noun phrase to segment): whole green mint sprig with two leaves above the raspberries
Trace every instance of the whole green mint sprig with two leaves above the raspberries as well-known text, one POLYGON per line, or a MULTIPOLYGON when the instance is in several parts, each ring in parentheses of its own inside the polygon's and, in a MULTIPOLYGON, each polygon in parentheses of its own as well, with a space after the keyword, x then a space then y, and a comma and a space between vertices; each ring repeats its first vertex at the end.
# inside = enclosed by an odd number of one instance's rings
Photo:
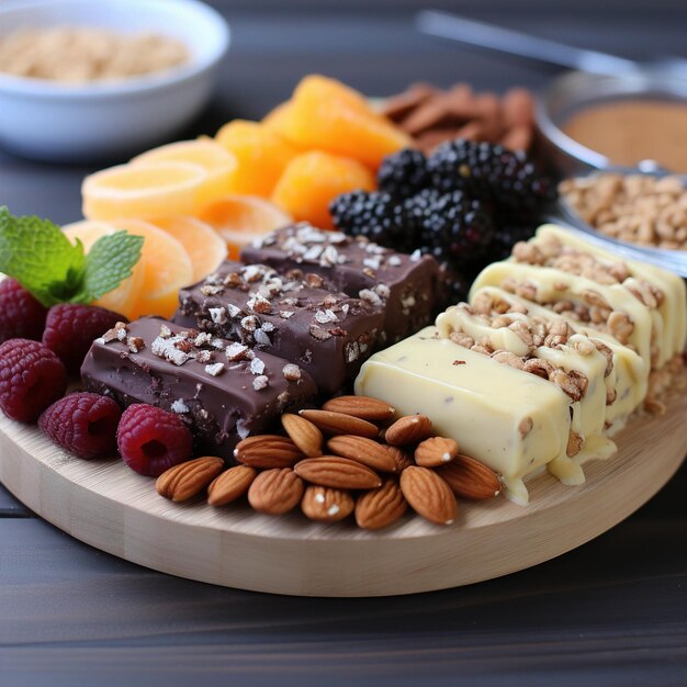
POLYGON ((0 207, 0 272, 43 305, 92 303, 116 289, 140 259, 143 237, 116 232, 99 238, 88 255, 77 240, 40 217, 15 217, 0 207))

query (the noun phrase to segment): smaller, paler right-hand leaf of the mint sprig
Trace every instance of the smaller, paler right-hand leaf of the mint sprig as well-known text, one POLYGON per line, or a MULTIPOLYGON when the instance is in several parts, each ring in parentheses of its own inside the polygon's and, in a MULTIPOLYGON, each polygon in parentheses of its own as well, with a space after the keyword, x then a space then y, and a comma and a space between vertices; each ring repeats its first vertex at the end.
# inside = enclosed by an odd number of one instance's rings
POLYGON ((105 293, 114 291, 127 277, 140 258, 142 236, 116 232, 101 236, 86 256, 86 268, 80 289, 71 303, 92 303, 105 293))

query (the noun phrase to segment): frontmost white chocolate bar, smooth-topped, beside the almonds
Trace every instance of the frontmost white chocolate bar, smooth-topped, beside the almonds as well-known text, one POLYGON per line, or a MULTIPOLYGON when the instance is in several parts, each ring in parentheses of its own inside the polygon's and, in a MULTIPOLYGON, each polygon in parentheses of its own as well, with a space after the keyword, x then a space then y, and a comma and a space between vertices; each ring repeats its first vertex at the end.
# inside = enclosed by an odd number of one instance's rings
POLYGON ((386 401, 402 415, 431 417, 439 435, 500 472, 508 497, 519 504, 528 500, 526 475, 566 459, 568 396, 534 374, 440 338, 435 327, 372 356, 356 393, 386 401))

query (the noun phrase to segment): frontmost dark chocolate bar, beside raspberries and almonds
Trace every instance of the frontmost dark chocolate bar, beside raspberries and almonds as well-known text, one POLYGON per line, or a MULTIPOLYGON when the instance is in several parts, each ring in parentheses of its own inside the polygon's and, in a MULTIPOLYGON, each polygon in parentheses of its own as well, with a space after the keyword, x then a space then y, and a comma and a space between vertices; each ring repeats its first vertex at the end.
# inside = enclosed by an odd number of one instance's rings
POLYGON ((305 370, 294 379, 288 360, 184 329, 158 317, 127 325, 144 341, 98 339, 81 367, 83 385, 120 404, 148 403, 178 413, 203 453, 232 457, 240 439, 268 429, 282 413, 316 393, 305 370))

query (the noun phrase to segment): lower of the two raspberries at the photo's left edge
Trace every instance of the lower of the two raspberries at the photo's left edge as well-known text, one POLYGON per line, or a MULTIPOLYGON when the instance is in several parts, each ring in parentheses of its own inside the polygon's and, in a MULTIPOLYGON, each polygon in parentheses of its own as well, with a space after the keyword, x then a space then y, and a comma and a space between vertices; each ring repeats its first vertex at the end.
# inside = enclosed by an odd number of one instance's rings
POLYGON ((0 408, 8 417, 35 423, 66 388, 67 370, 45 346, 29 339, 0 346, 0 408))

